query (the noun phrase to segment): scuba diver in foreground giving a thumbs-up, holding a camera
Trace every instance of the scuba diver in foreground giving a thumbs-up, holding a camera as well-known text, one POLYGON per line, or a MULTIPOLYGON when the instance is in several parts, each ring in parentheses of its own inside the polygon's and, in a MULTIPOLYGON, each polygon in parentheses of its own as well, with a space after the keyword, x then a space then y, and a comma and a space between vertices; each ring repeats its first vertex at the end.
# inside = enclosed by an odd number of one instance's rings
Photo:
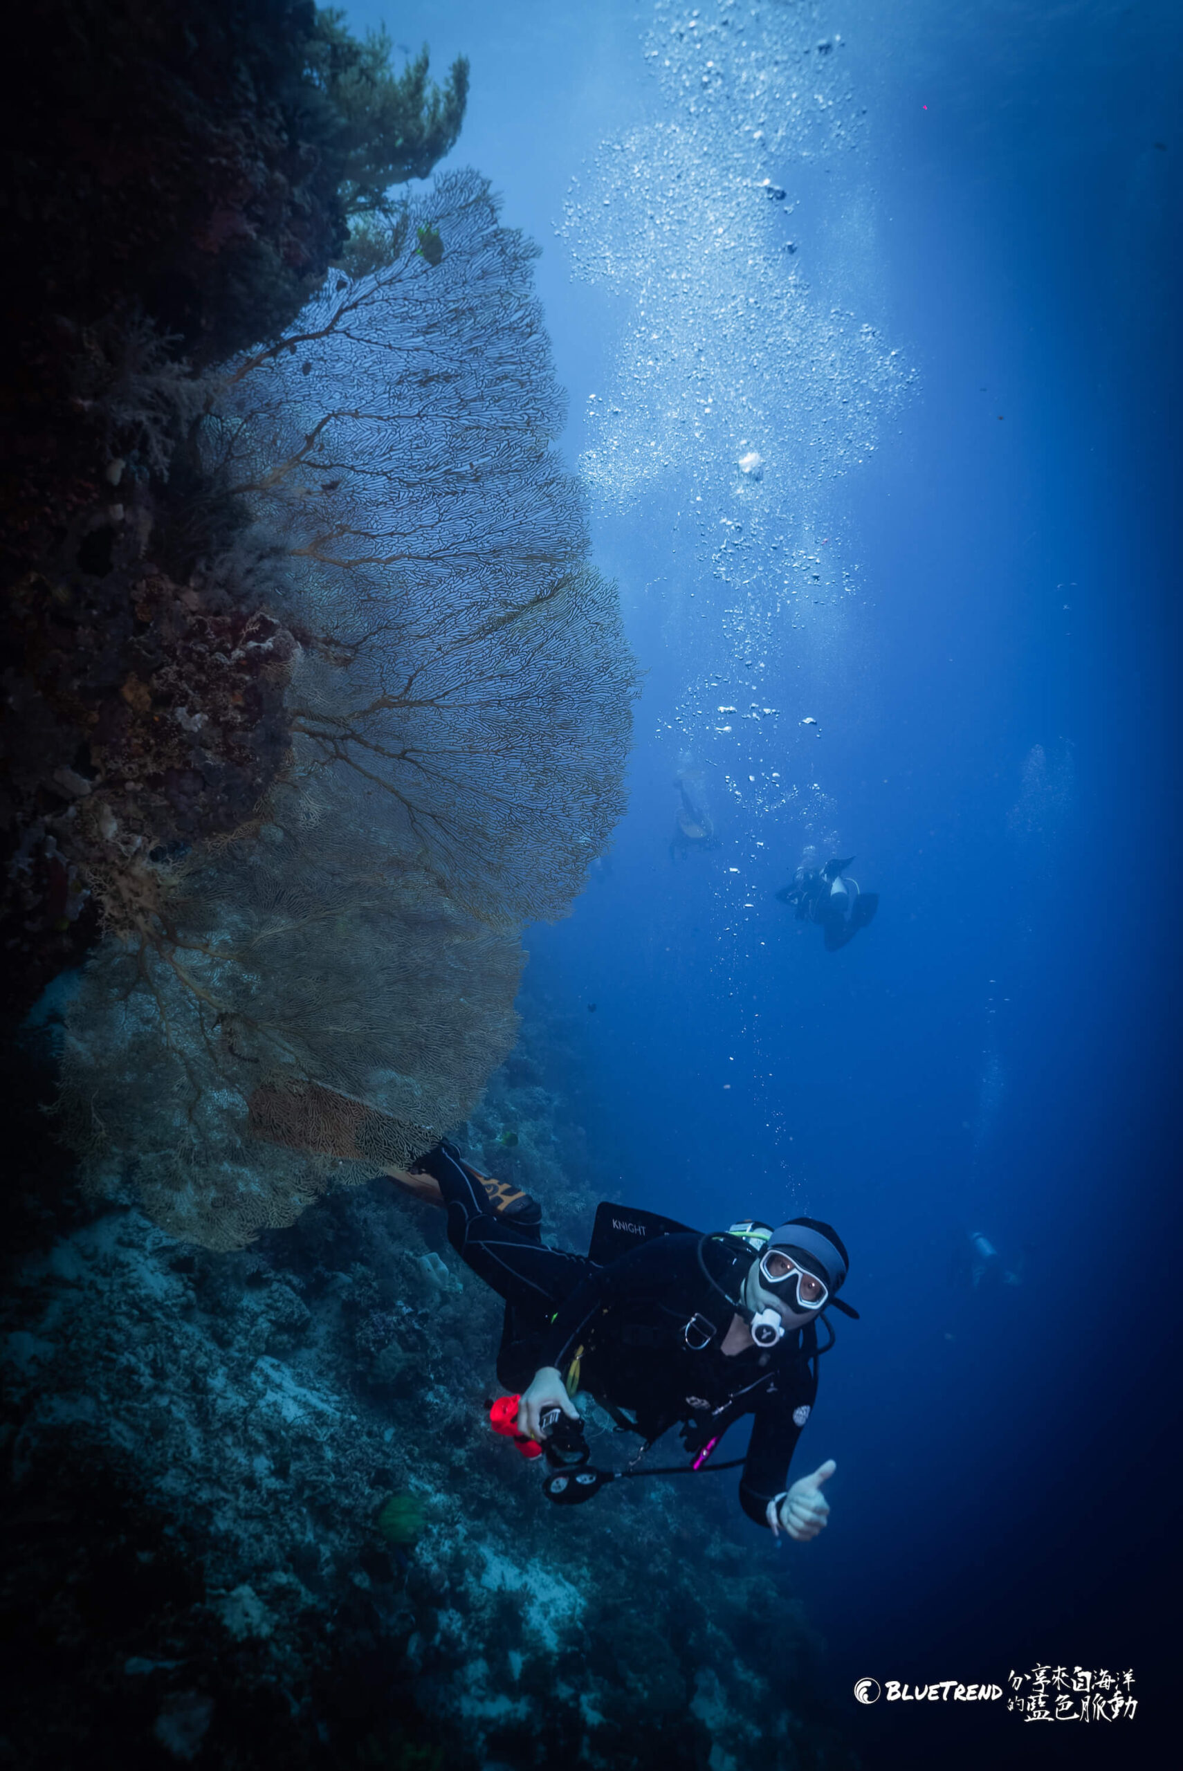
POLYGON ((537 1201, 482 1176, 453 1144, 437 1144, 414 1172, 386 1172, 445 1206, 448 1241, 505 1300, 498 1378, 522 1394, 494 1403, 491 1422, 526 1456, 542 1447, 547 1498, 572 1504, 611 1481, 703 1470, 726 1429, 753 1415, 747 1454, 714 1468, 742 1465, 740 1505, 774 1535, 804 1543, 822 1530, 829 1504, 820 1489, 834 1463, 792 1486, 788 1465, 816 1397, 818 1357, 834 1344, 823 1312, 859 1314, 836 1296, 848 1257, 829 1224, 744 1222, 703 1236, 602 1204, 581 1256, 545 1247, 537 1201), (645 1442, 629 1468, 588 1465, 577 1390, 645 1442), (639 1468, 677 1424, 691 1461, 639 1468))

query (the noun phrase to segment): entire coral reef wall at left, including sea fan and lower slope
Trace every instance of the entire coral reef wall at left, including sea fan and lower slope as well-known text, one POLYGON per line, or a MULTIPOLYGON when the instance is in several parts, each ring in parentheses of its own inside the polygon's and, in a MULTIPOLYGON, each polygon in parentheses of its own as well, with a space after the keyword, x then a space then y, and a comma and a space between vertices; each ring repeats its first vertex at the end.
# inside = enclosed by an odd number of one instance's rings
POLYGON ((466 64, 301 0, 28 23, 0 1762, 845 1771, 738 1511, 547 1507, 485 1424, 496 1300, 379 1172, 459 1128, 590 1224, 547 1029, 485 1084, 521 926, 620 811, 632 666, 533 248, 475 174, 391 195, 466 64))

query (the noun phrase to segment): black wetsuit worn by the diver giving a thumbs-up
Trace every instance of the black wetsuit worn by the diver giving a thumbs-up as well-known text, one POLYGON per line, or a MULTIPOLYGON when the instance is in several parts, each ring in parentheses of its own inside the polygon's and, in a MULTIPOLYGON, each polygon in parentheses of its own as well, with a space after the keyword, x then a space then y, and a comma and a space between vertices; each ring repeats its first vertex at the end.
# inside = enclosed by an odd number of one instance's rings
POLYGON ((767 1525, 816 1396, 816 1332, 790 1332, 770 1351, 723 1353, 751 1249, 735 1236, 668 1234, 597 1266, 492 1215, 452 1146, 420 1167, 443 1188, 448 1241, 505 1298, 501 1383, 521 1390, 542 1365, 565 1371, 583 1350, 579 1387, 629 1410, 648 1442, 682 1422, 687 1458, 754 1415, 740 1505, 767 1525))

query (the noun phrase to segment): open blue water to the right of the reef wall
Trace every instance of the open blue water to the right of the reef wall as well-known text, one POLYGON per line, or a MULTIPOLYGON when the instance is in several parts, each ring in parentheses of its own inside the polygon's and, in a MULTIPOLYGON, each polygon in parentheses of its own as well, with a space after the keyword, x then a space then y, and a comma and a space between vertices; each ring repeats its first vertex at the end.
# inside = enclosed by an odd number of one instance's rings
MULTIPOLYGON (((574 179, 599 189, 602 142, 673 115, 645 60, 652 12, 434 0, 397 18, 437 66, 473 60, 453 161, 544 246, 572 466, 602 445, 590 397, 620 406, 630 308, 627 289, 572 280, 593 205, 574 232, 563 205, 574 179)), ((565 1029, 556 1080, 606 1195, 703 1229, 808 1211, 850 1247, 862 1321, 839 1321, 793 1472, 836 1458, 832 1521, 783 1566, 868 1764, 939 1741, 995 1762, 1001 1736, 861 1713, 857 1675, 1121 1663, 1149 1691, 1165 1656, 1179 27, 1167 4, 818 7, 806 35, 841 34, 850 140, 769 168, 797 251, 760 289, 792 264, 811 324, 838 306, 898 351, 896 393, 871 377, 877 446, 809 480, 790 437, 760 487, 701 450, 627 498, 593 475, 597 556, 646 673, 630 808, 611 870, 531 932, 528 992, 565 1029), (712 576, 740 494, 762 512, 742 565, 754 602, 793 547, 823 561, 816 604, 747 636, 712 576), (777 714, 719 730, 719 705, 738 724, 753 701, 777 714), (671 861, 684 762, 719 847, 671 861), (882 894, 838 955, 772 896, 831 838, 882 894), (951 1282, 969 1229, 1022 1259, 1020 1286, 951 1282)), ((611 200, 657 271, 685 250, 677 227, 643 248, 632 198, 611 200)), ((638 411, 655 383, 661 361, 625 383, 638 411)), ((749 1532, 730 1495, 721 1509, 749 1532)), ((1066 1750, 1004 1732, 1032 1762, 1066 1750)))

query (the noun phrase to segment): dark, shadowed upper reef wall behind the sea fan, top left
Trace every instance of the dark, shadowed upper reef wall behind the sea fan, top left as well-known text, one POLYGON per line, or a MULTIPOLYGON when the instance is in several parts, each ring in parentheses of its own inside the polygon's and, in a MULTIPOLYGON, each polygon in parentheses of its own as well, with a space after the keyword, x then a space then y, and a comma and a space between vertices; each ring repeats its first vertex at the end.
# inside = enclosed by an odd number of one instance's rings
POLYGON ((131 852, 236 829, 283 765, 294 641, 202 460, 207 372, 453 145, 468 64, 391 51, 308 0, 44 0, 9 34, 4 1031, 142 900, 131 852))

